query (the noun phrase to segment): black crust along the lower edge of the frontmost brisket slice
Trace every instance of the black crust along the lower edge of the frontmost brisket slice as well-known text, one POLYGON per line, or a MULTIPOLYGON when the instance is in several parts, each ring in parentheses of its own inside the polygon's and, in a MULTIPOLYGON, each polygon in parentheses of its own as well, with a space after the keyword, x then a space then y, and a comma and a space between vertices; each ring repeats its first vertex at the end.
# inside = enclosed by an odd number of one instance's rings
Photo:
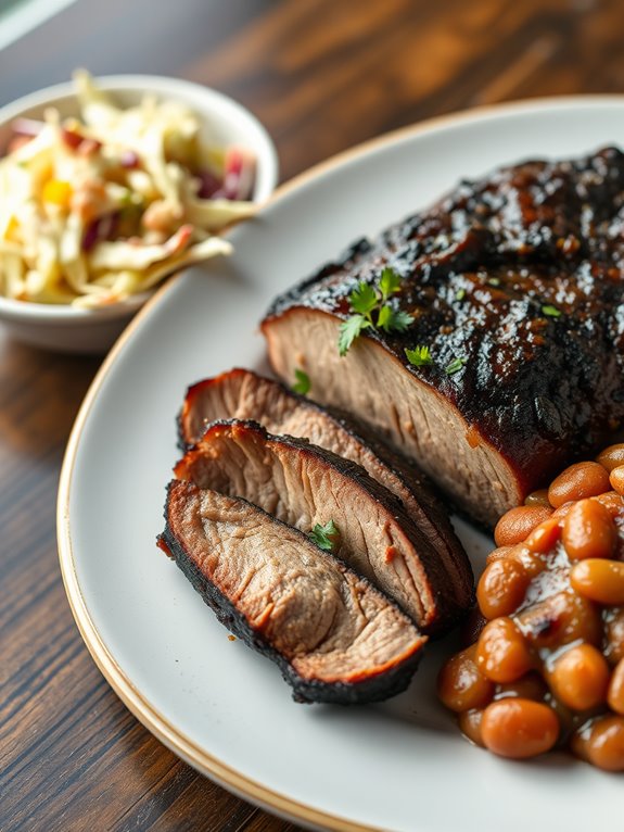
MULTIPOLYGON (((184 484, 191 489, 195 488, 191 483, 184 484)), ((358 682, 328 683, 302 678, 294 670, 292 665, 278 653, 278 651, 276 651, 257 630, 251 627, 245 616, 242 615, 242 613, 237 609, 219 589, 208 580, 202 570, 193 563, 184 546, 171 531, 167 510, 169 493, 173 487, 179 486, 180 482, 174 480, 169 482, 167 487, 167 502, 164 512, 165 530, 158 538, 158 545, 176 562, 178 567, 192 583, 193 588, 215 613, 220 623, 222 623, 231 633, 244 641, 250 647, 264 656, 267 656, 267 658, 270 658, 271 661, 275 661, 278 665, 282 677, 293 689, 293 698, 295 702, 356 705, 382 702, 391 696, 396 696, 398 693, 406 690, 418 667, 422 651, 413 653, 390 670, 385 670, 384 672, 371 676, 358 682)), ((280 520, 277 520, 276 518, 271 519, 273 522, 283 526, 280 520)), ((301 533, 297 532, 296 529, 293 529, 292 531, 301 533)), ((301 533, 301 537, 304 540, 307 540, 303 533, 301 533)), ((329 554, 328 556, 331 557, 329 554)), ((344 565, 341 564, 341 567, 343 566, 344 565)), ((365 578, 361 578, 361 580, 366 581, 365 578)))

